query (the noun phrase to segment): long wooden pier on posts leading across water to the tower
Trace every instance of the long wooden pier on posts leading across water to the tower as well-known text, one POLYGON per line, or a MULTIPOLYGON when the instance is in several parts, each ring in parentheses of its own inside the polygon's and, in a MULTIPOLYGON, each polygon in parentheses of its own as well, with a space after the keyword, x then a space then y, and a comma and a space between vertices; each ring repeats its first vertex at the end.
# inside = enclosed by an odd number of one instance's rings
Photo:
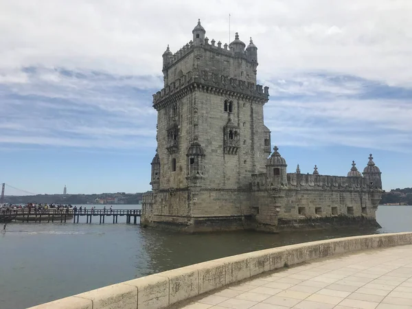
POLYGON ((99 220, 100 224, 104 223, 106 217, 112 217, 113 223, 117 223, 119 216, 126 216, 126 223, 130 224, 133 218, 133 224, 137 224, 137 217, 141 216, 141 209, 82 209, 82 211, 79 211, 79 209, 73 211, 73 208, 69 209, 69 211, 67 209, 39 211, 34 211, 33 209, 31 211, 29 209, 9 209, 0 211, 0 222, 12 218, 13 221, 39 223, 42 221, 63 223, 71 222, 73 219, 73 223, 78 223, 80 216, 86 216, 86 223, 91 223, 93 217, 99 217, 96 220, 99 220))

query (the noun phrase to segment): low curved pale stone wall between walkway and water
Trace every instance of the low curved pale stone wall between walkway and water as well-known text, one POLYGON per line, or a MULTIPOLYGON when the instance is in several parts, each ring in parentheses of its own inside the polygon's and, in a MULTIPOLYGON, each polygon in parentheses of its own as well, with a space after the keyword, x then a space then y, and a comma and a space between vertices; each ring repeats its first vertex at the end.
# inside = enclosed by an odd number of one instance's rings
POLYGON ((30 309, 158 309, 284 266, 342 253, 412 244, 412 233, 293 244, 211 260, 113 284, 30 309))

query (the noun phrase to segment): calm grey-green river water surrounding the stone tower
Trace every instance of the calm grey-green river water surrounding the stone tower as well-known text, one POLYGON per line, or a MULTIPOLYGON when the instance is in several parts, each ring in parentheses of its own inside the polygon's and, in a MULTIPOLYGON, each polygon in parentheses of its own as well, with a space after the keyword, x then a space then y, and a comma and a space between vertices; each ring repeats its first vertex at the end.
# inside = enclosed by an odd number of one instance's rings
MULTIPOLYGON (((95 205, 102 208, 101 205, 95 205)), ((87 205, 90 209, 91 205, 87 205)), ((140 205, 116 205, 137 209, 140 205)), ((20 309, 108 284, 228 255, 286 244, 371 233, 412 231, 412 207, 380 206, 382 229, 185 235, 117 224, 10 223, 0 233, 0 308, 20 309)))

